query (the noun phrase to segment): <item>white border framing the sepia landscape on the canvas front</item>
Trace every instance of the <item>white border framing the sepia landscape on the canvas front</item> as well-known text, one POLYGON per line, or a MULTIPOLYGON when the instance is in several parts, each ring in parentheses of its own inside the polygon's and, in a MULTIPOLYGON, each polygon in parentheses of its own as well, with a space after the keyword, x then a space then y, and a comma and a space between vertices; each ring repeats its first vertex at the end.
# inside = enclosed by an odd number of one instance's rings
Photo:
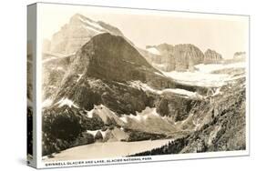
MULTIPOLYGON (((40 18, 41 14, 40 5, 72 5, 72 4, 56 4, 56 3, 36 3, 36 168, 56 168, 56 167, 67 167, 67 166, 99 166, 99 165, 117 165, 117 164, 130 164, 130 163, 142 163, 142 162, 159 162, 159 161, 171 161, 171 160, 185 160, 185 159, 204 159, 204 158, 213 158, 213 157, 227 157, 227 156, 250 156, 250 15, 227 15, 227 14, 208 14, 200 12, 188 12, 188 11, 171 11, 171 10, 157 10, 157 9, 138 9, 138 8, 128 8, 128 7, 118 7, 118 6, 97 6, 97 5, 81 5, 87 7, 96 7, 96 8, 114 8, 118 9, 128 9, 134 10, 136 12, 146 10, 148 13, 159 13, 159 14, 178 14, 178 15, 204 15, 210 17, 219 16, 231 16, 231 17, 248 17, 249 24, 249 33, 248 33, 248 59, 246 60, 246 150, 241 151, 224 151, 224 152, 208 152, 208 153, 193 153, 193 154, 174 154, 174 155, 160 155, 160 156, 149 156, 151 160, 145 161, 130 161, 130 162, 107 162, 108 159, 118 160, 118 159, 128 159, 128 158, 145 158, 147 156, 134 156, 134 157, 118 157, 118 158, 102 158, 102 159, 92 159, 92 160, 69 160, 69 161, 59 161, 58 163, 66 163, 66 166, 46 166, 46 164, 56 163, 56 162, 44 162, 42 160, 42 108, 41 108, 41 81, 42 81, 42 45, 41 42, 43 37, 38 34, 38 28, 40 28, 40 18), (105 161, 104 163, 98 163, 99 160, 105 161), (77 163, 77 162, 88 162, 89 164, 68 164, 68 163, 77 163), (67 165, 68 164, 68 165, 67 165)), ((157 15, 157 14, 156 14, 157 15)), ((40 32, 39 32, 40 33, 40 32)), ((35 157, 35 156, 34 156, 35 157)))

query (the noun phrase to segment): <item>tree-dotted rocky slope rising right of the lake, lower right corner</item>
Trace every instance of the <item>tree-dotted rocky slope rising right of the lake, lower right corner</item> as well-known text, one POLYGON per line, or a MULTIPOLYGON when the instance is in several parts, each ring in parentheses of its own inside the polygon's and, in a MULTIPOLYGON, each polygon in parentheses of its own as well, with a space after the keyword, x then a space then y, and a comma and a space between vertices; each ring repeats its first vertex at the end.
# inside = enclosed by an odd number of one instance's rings
MULTIPOLYGON (((233 71, 236 73, 235 70, 233 71)), ((179 137, 166 146, 133 156, 246 149, 244 72, 229 85, 222 86, 220 91, 223 93, 208 97, 204 103, 193 106, 189 117, 181 124, 182 129, 191 130, 189 122, 193 125, 192 123, 196 121, 194 132, 179 137), (197 120, 193 120, 193 117, 197 120)))

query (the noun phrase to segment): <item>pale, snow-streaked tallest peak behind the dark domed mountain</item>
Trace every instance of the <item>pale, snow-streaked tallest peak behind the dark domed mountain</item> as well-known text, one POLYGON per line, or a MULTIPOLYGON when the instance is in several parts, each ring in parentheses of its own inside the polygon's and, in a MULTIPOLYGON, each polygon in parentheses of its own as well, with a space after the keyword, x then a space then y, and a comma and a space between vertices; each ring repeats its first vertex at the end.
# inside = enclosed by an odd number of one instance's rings
POLYGON ((94 21, 81 14, 73 15, 69 23, 53 35, 49 51, 51 53, 73 54, 85 45, 93 36, 102 33, 121 35, 121 31, 112 25, 101 21, 94 21), (79 38, 77 38, 79 37, 79 38))

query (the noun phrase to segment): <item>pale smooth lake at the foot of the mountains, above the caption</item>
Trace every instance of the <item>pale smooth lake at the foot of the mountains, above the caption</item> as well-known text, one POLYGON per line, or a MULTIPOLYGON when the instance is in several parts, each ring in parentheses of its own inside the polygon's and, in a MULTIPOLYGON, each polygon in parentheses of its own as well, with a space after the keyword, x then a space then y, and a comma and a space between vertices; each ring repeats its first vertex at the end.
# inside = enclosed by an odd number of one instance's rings
POLYGON ((121 157, 144 152, 164 146, 172 139, 146 140, 136 142, 105 142, 85 146, 76 146, 54 154, 54 157, 44 157, 45 162, 60 160, 83 160, 108 157, 121 157))

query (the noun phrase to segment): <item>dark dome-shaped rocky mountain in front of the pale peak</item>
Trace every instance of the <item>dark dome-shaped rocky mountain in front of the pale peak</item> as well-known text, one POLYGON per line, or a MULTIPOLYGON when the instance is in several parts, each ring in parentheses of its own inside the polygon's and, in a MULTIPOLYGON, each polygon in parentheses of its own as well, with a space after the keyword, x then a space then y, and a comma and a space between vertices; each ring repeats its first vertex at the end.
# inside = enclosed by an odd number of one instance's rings
POLYGON ((145 106, 152 106, 152 100, 144 91, 128 85, 133 81, 156 88, 175 86, 123 37, 96 35, 69 65, 56 91, 55 102, 67 97, 87 110, 103 104, 120 114, 135 114, 145 106))

